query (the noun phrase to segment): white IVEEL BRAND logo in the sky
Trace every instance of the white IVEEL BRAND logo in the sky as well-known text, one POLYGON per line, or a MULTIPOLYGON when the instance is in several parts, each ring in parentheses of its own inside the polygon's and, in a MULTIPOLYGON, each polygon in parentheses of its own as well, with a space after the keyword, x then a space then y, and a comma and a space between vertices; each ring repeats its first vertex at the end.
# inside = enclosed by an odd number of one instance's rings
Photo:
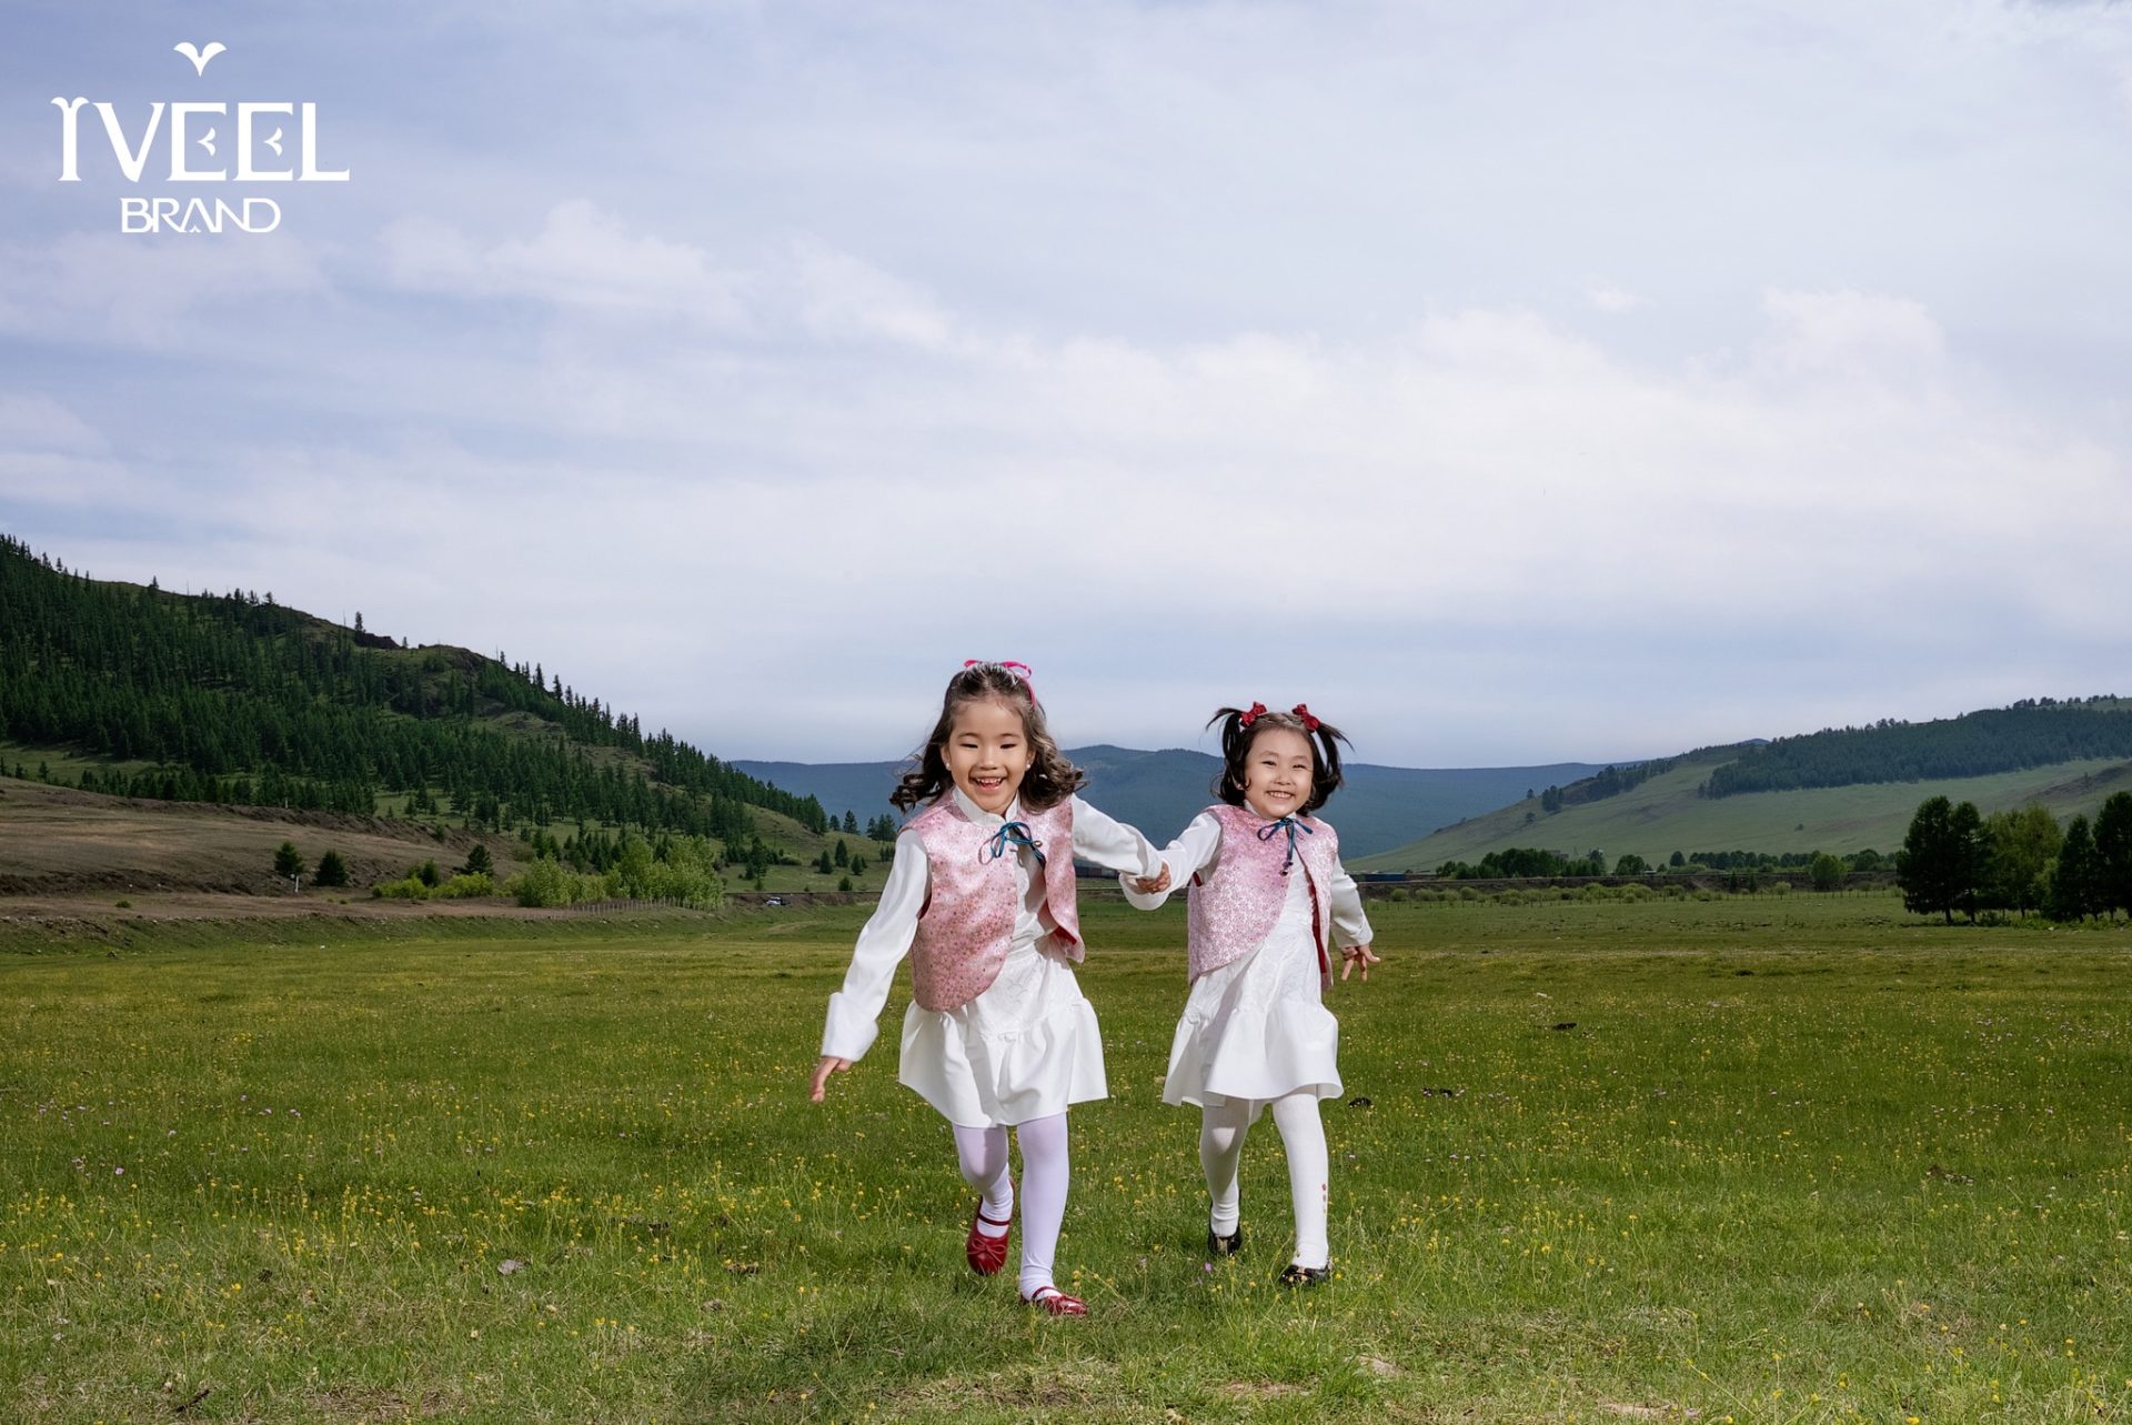
MULTIPOLYGON (((171 49, 192 64, 194 79, 207 79, 215 55, 228 53, 222 41, 179 41, 171 49)), ((102 119, 117 175, 132 186, 348 181, 348 169, 320 166, 318 105, 311 102, 156 100, 145 117, 122 115, 117 105, 87 96, 55 96, 51 102, 60 111, 62 183, 81 181, 83 109, 102 119), (151 179, 158 147, 162 156, 151 179)), ((90 147, 96 147, 94 130, 90 147)), ((271 196, 119 196, 119 233, 273 233, 279 226, 281 205, 271 196)))

